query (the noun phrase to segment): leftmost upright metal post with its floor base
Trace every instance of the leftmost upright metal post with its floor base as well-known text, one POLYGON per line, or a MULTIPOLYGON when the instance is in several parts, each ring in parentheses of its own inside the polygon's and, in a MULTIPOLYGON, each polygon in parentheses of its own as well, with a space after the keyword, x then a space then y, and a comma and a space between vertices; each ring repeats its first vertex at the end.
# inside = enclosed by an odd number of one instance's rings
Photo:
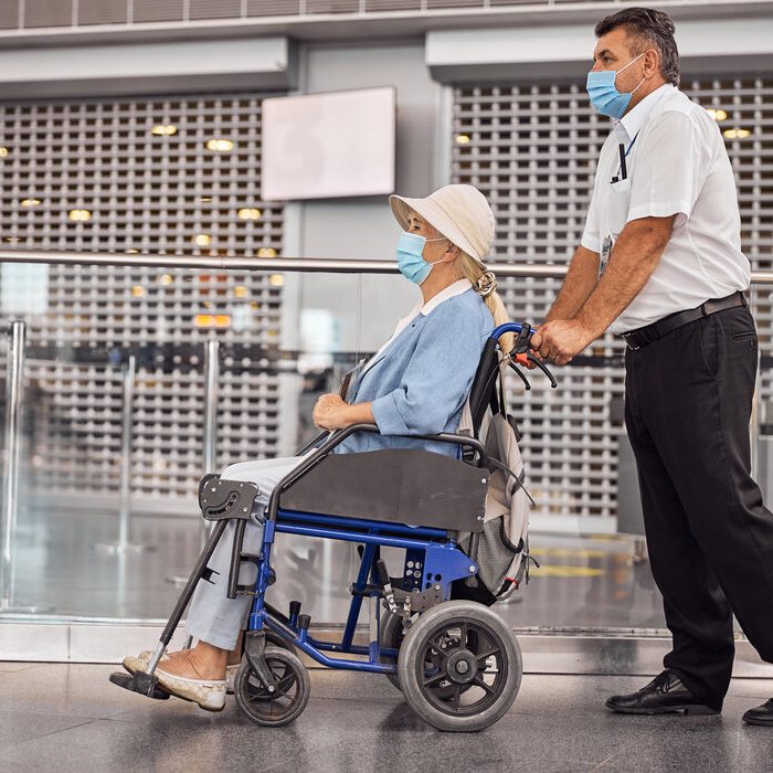
POLYGON ((6 464, 2 475, 2 515, 0 534, 0 613, 41 614, 53 612, 50 604, 19 605, 15 597, 15 536, 19 515, 19 475, 21 465, 21 414, 24 390, 24 343, 27 325, 14 320, 9 326, 6 358, 6 464))

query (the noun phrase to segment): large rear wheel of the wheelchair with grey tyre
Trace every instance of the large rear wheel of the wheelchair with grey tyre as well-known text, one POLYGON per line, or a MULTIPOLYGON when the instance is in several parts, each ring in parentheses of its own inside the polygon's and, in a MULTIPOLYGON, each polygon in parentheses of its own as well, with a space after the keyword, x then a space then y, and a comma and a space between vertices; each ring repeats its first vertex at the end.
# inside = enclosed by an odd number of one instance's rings
POLYGON ((509 711, 523 666, 518 640, 491 610, 449 601, 425 612, 409 629, 398 675, 405 700, 427 724, 474 732, 509 711), (434 675, 427 674, 430 660, 440 664, 434 675), (433 689, 443 681, 452 684, 452 696, 433 689))

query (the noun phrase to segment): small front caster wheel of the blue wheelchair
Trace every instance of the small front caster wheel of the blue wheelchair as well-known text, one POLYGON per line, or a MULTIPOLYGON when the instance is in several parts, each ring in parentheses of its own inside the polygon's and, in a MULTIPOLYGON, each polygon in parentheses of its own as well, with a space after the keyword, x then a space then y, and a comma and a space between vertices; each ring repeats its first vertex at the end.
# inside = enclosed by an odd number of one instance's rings
POLYGON ((245 658, 234 681, 234 697, 242 712, 255 724, 278 728, 300 716, 311 693, 306 666, 289 649, 266 647, 266 664, 276 686, 271 691, 245 658))

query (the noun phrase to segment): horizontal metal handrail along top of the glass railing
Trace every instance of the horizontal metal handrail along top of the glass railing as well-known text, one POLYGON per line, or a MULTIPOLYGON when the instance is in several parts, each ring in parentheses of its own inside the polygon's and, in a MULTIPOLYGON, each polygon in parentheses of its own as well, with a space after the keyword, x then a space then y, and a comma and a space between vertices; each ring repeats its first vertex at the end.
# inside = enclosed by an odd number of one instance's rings
MULTIPOLYGON (((0 263, 43 263, 77 266, 131 266, 134 268, 191 268, 255 272, 319 272, 331 274, 395 274, 394 261, 330 257, 240 257, 237 255, 148 255, 112 252, 55 252, 44 250, 0 250, 0 263)), ((489 263, 499 277, 560 279, 566 265, 543 263, 489 263)), ((752 272, 752 284, 773 285, 773 271, 752 272)))

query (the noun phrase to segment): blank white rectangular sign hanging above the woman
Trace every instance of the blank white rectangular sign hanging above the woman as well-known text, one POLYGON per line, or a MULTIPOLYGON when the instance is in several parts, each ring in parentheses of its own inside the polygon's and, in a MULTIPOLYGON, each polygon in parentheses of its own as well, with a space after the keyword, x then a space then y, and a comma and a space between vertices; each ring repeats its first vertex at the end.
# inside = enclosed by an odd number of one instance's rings
POLYGON ((264 201, 394 192, 394 88, 272 97, 262 120, 264 201))

